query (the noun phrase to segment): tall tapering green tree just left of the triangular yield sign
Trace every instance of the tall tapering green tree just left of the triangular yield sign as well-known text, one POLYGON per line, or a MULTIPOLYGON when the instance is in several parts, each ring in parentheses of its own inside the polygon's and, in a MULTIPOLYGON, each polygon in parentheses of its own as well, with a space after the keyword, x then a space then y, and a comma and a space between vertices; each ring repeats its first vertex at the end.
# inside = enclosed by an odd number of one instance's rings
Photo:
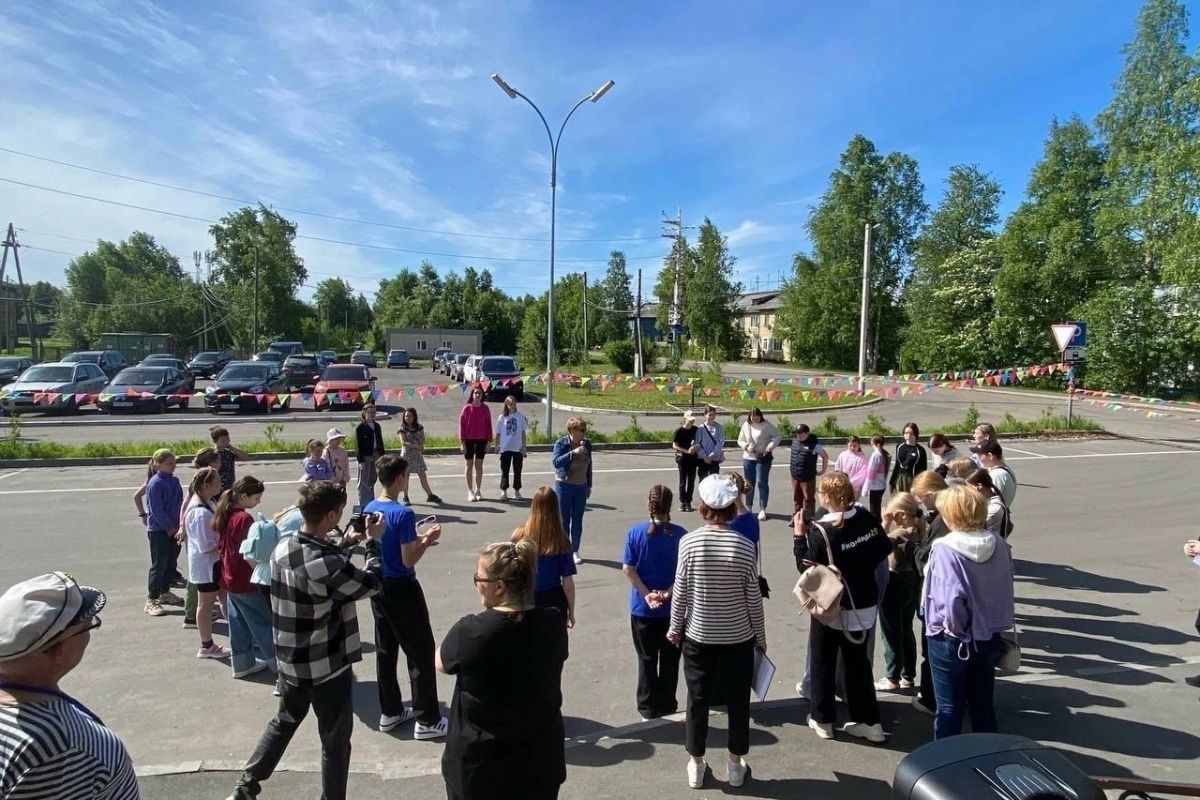
POLYGON ((1114 276, 1097 233, 1104 185, 1104 151, 1087 124, 1054 121, 1026 199, 998 240, 1002 264, 990 326, 998 362, 1056 357, 1050 325, 1068 319, 1114 276))

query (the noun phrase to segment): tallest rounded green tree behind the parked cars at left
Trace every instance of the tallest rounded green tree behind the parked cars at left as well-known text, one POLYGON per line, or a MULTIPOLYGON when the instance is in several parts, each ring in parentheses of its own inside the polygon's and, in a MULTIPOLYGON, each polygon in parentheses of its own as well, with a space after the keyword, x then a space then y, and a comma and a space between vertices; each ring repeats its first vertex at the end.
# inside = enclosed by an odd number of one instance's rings
POLYGON ((253 341, 256 311, 260 339, 268 335, 299 335, 302 317, 298 315, 301 309, 295 294, 308 272, 293 247, 295 223, 259 205, 226 215, 209 233, 218 264, 212 277, 218 294, 233 309, 235 343, 247 349, 262 344, 253 341))

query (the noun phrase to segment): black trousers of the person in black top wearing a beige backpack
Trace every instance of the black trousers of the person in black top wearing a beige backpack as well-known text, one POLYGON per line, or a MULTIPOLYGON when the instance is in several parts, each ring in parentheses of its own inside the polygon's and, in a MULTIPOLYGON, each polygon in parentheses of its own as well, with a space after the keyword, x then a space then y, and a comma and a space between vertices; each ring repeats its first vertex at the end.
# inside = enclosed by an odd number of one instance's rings
POLYGON ((838 718, 834 693, 838 684, 838 655, 846 670, 846 704, 851 722, 877 724, 880 705, 875 699, 871 660, 866 640, 853 643, 835 627, 810 621, 809 646, 812 648, 812 718, 833 724, 838 718))

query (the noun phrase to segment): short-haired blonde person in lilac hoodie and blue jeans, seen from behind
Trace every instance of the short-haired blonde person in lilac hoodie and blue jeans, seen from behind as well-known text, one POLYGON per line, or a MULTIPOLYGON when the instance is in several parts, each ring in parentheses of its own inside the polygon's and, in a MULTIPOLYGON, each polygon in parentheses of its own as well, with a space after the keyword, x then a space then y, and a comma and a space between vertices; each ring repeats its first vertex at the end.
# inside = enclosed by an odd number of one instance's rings
POLYGON ((974 733, 995 733, 1000 634, 1013 627, 1013 559, 985 529, 988 501, 974 488, 938 492, 937 512, 950 533, 934 541, 922 589, 937 698, 934 739, 962 733, 965 714, 974 733))

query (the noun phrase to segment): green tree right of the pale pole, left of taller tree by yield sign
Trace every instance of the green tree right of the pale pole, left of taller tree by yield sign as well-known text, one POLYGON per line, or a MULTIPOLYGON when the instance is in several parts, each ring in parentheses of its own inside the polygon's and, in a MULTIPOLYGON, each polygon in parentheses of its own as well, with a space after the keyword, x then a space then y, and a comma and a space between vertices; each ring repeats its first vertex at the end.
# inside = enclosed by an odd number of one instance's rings
POLYGON ((1000 221, 1000 184, 972 164, 956 164, 946 197, 917 237, 905 287, 908 324, 900 347, 905 371, 988 366, 991 283, 1000 253, 990 246, 1000 221), (971 271, 976 270, 976 273, 971 271), (973 291, 973 297, 960 297, 973 291))

